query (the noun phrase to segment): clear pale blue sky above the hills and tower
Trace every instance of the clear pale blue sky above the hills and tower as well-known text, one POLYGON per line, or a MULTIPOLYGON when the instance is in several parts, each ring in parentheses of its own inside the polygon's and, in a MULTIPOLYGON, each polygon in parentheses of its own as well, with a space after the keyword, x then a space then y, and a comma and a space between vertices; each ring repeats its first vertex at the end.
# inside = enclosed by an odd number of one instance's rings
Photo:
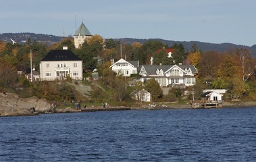
POLYGON ((255 0, 0 0, 0 33, 256 44, 255 0))

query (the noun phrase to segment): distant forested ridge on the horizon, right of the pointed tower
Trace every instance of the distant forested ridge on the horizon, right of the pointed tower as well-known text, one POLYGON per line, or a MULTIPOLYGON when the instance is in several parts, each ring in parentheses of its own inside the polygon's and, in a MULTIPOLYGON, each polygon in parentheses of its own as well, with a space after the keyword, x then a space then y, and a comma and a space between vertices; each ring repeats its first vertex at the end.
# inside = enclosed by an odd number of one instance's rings
POLYGON ((232 43, 220 43, 220 44, 215 44, 215 43, 204 43, 204 42, 199 42, 199 41, 168 41, 160 38, 151 38, 151 39, 138 39, 138 38, 115 38, 114 40, 116 41, 121 41, 122 43, 134 43, 134 42, 140 42, 140 43, 145 43, 149 40, 154 40, 154 41, 160 41, 161 43, 168 45, 171 47, 174 45, 174 43, 180 44, 184 46, 185 49, 188 49, 188 51, 191 50, 192 45, 195 43, 197 45, 197 49, 201 49, 202 51, 219 51, 223 52, 228 49, 240 49, 240 48, 246 48, 251 51, 251 53, 256 57, 256 45, 253 45, 252 47, 245 46, 245 45, 235 45, 232 43))

